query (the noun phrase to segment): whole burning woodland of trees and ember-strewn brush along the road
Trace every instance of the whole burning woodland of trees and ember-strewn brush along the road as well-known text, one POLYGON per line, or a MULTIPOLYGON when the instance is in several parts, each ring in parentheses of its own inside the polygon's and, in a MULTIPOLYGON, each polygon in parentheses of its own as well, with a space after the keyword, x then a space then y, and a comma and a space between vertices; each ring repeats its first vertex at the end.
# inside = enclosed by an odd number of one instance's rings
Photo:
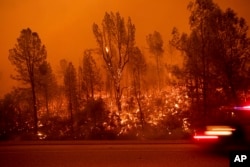
POLYGON ((61 57, 56 70, 39 32, 23 28, 9 50, 18 86, 1 100, 1 138, 186 138, 222 106, 247 101, 245 19, 212 0, 187 10, 190 32, 173 26, 166 41, 154 30, 143 47, 133 18, 106 12, 92 24, 96 47, 79 64, 61 57))

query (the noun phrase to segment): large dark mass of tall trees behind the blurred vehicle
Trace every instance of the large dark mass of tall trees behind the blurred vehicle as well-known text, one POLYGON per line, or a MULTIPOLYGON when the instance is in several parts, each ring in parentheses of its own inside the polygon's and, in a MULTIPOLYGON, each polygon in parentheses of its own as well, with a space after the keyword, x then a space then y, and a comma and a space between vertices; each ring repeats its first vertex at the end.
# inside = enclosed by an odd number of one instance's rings
POLYGON ((188 9, 190 34, 174 28, 170 43, 185 53, 189 96, 201 111, 196 115, 206 117, 218 106, 237 104, 249 89, 248 26, 232 9, 222 11, 212 0, 192 1, 188 9))

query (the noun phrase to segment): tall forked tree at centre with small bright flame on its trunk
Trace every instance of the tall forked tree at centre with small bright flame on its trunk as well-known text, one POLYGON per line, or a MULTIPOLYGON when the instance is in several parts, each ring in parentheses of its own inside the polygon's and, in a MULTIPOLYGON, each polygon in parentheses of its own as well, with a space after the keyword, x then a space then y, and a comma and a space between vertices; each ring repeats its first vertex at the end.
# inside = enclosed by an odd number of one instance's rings
POLYGON ((101 51, 103 60, 111 75, 114 84, 116 105, 121 112, 121 79, 129 55, 135 43, 135 26, 128 18, 125 24, 124 18, 117 13, 106 13, 102 22, 102 29, 97 24, 93 25, 93 32, 101 51))

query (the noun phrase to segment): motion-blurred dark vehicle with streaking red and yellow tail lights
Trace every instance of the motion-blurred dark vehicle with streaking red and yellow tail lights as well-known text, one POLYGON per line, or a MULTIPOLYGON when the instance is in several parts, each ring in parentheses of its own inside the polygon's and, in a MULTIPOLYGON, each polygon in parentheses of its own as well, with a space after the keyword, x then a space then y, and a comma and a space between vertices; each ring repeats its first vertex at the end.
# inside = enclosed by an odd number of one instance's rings
POLYGON ((195 143, 205 146, 250 146, 250 105, 227 107, 223 117, 205 123, 195 130, 195 143))

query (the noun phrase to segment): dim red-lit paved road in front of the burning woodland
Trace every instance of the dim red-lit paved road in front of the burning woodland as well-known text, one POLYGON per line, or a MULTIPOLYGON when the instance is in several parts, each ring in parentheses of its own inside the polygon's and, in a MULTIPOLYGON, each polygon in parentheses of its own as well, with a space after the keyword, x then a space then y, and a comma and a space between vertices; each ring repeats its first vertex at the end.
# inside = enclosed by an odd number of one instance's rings
POLYGON ((0 144, 1 167, 228 167, 227 154, 189 143, 0 144))

